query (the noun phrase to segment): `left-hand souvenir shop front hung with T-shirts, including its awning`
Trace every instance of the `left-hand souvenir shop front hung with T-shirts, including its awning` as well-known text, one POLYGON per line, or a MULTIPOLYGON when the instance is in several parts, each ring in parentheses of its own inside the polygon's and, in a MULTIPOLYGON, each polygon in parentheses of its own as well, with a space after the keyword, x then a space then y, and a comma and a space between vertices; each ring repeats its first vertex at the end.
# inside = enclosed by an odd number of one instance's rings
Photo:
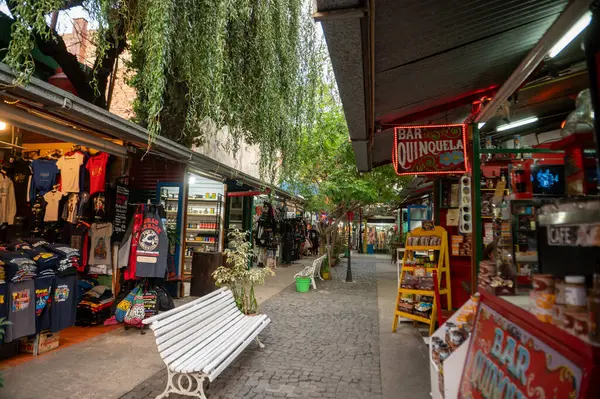
POLYGON ((123 321, 140 327, 123 301, 170 306, 190 292, 196 254, 222 251, 224 175, 259 185, 162 137, 148 151, 138 125, 13 78, 0 64, 0 318, 11 322, 2 359, 123 321))

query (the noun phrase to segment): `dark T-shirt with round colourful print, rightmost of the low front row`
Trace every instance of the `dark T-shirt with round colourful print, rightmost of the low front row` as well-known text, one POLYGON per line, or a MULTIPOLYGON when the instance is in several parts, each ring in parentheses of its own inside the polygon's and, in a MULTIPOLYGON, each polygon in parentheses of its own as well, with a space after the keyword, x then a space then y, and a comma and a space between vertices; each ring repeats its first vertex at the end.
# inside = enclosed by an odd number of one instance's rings
POLYGON ((77 276, 56 277, 50 308, 50 331, 75 325, 77 316, 77 276))

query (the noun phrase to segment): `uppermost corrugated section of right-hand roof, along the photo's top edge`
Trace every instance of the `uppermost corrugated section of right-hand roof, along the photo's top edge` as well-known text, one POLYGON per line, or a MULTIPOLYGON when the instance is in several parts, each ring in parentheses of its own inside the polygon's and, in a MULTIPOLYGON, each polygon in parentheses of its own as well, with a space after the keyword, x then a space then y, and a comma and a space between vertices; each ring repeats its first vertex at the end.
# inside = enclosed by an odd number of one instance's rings
MULTIPOLYGON (((540 19, 550 17, 552 23, 567 3, 567 0, 377 0, 375 69, 381 72, 415 62, 540 19)), ((548 26, 545 25, 546 29, 548 26)))

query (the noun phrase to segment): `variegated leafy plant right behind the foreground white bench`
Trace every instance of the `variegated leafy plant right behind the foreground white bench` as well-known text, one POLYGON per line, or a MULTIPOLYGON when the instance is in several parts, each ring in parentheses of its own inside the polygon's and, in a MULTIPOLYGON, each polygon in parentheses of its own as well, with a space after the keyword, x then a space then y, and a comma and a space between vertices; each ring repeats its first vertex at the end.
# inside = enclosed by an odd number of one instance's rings
POLYGON ((264 284, 267 275, 275 273, 270 267, 248 268, 252 246, 247 239, 247 232, 234 229, 229 232, 228 237, 229 248, 225 250, 227 266, 219 266, 212 277, 217 287, 229 287, 242 313, 257 314, 258 302, 254 286, 264 284))

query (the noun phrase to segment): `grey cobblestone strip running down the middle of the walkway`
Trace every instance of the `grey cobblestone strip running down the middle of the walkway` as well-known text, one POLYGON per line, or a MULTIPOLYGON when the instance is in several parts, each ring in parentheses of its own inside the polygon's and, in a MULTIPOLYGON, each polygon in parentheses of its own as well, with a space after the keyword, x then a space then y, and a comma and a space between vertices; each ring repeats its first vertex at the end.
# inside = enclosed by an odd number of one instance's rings
MULTIPOLYGON (((300 294, 291 285, 261 311, 271 324, 266 345, 250 344, 206 391, 221 398, 381 398, 379 321, 375 259, 353 259, 355 283, 345 279, 345 261, 333 280, 300 294)), ((122 399, 155 398, 166 386, 166 369, 122 399)), ((179 395, 170 397, 179 399, 179 395)))

